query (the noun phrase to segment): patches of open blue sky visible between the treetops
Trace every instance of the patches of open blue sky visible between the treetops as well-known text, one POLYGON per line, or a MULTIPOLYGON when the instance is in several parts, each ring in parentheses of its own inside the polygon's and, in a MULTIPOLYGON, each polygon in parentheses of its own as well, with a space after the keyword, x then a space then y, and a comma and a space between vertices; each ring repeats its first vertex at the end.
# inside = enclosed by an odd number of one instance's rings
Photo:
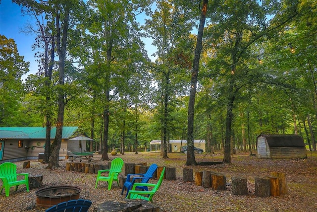
MULTIPOLYGON (((141 16, 140 16, 141 18, 141 16)), ((6 38, 12 38, 18 48, 19 55, 24 56, 24 61, 30 62, 30 71, 28 74, 35 74, 38 71, 38 65, 35 61, 32 45, 34 44, 35 34, 25 34, 22 29, 25 28, 27 23, 32 23, 32 19, 28 16, 22 16, 21 7, 11 0, 1 0, 0 3, 0 34, 6 38)), ((144 22, 144 16, 143 20, 144 22)), ((142 39, 146 45, 149 57, 157 51, 157 48, 152 46, 150 38, 142 39)), ((26 76, 23 76, 26 78, 26 76)))

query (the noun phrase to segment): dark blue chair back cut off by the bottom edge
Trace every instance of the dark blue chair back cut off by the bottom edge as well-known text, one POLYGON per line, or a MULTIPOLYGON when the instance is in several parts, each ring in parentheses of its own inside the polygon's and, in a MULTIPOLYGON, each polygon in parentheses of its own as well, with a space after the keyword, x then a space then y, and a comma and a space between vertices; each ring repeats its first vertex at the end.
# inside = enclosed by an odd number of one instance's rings
POLYGON ((88 212, 91 204, 92 202, 90 200, 69 200, 52 206, 45 212, 88 212))

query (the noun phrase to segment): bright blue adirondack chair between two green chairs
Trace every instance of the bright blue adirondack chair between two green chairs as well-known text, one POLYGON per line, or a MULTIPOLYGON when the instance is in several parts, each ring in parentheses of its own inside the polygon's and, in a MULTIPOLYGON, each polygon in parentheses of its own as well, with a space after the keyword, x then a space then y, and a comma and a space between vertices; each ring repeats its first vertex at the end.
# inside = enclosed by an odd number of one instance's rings
MULTIPOLYGON (((123 195, 124 189, 127 189, 127 194, 125 195, 125 197, 128 196, 129 190, 132 188, 134 182, 136 179, 142 179, 141 183, 147 183, 149 182, 149 180, 153 177, 154 172, 157 170, 158 165, 153 163, 148 171, 145 174, 128 174, 127 175, 127 179, 124 182, 123 188, 122 188, 122 192, 121 195, 123 195), (135 177, 133 177, 135 176, 135 177), (132 177, 132 180, 131 180, 132 177)), ((146 190, 148 191, 148 187, 147 186, 138 186, 138 189, 142 189, 142 190, 146 190)))

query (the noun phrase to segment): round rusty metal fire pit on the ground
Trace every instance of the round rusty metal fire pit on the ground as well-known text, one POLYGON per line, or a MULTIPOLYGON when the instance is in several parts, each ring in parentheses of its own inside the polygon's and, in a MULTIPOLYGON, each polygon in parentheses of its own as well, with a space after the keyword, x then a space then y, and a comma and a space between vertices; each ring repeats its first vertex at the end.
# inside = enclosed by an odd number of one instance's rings
POLYGON ((50 208, 58 203, 79 199, 81 188, 76 186, 50 186, 35 192, 36 206, 50 208))

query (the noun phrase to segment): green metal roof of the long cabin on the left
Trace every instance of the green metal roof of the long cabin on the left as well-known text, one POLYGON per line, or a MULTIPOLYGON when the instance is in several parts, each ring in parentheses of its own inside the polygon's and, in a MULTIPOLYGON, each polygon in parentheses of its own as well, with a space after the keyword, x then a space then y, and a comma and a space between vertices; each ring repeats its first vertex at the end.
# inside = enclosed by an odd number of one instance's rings
MULTIPOLYGON (((63 127, 62 139, 68 139, 78 127, 63 127)), ((56 127, 51 129, 51 139, 55 138, 56 127)), ((45 139, 46 127, 0 127, 0 139, 45 139)))

